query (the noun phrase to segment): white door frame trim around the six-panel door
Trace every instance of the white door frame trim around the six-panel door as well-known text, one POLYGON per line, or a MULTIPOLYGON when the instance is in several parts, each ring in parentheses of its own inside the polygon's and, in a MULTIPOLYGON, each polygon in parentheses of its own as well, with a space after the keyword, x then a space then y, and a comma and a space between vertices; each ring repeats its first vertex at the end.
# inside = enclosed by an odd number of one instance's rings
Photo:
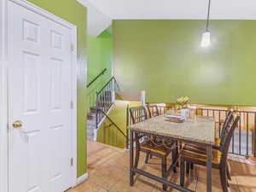
MULTIPOLYGON (((8 101, 8 52, 7 52, 7 4, 13 2, 21 7, 53 20, 72 32, 72 187, 77 182, 77 26, 62 20, 60 17, 27 2, 26 0, 0 0, 0 191, 8 191, 8 141, 9 141, 9 101, 8 101)), ((71 158, 72 158, 71 157, 71 158)))

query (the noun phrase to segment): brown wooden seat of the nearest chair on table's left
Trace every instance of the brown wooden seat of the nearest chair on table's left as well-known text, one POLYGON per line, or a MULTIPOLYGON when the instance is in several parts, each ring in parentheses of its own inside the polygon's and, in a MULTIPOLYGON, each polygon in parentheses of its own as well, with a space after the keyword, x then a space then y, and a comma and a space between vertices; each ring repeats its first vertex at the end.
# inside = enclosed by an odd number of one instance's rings
POLYGON ((164 146, 158 147, 153 145, 152 143, 145 142, 141 144, 140 148, 160 155, 167 155, 171 153, 172 149, 169 148, 172 148, 174 144, 175 142, 169 144, 168 148, 165 148, 164 146))

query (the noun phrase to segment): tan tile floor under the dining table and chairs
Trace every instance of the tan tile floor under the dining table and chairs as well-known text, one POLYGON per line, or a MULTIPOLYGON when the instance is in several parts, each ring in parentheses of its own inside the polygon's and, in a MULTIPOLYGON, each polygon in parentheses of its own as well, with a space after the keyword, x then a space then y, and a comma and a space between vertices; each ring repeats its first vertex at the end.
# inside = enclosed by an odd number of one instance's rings
MULTIPOLYGON (((133 187, 129 185, 129 151, 113 148, 102 143, 88 142, 89 179, 68 192, 160 192, 161 184, 147 177, 137 176, 133 187)), ((139 168, 160 176, 160 160, 153 158, 148 164, 141 158, 139 168)), ((256 192, 256 166, 230 161, 232 182, 231 192, 256 192)), ((169 177, 179 183, 179 174, 169 177)), ((221 192, 218 172, 212 172, 212 192, 221 192)), ((186 186, 197 192, 206 191, 206 170, 203 166, 195 169, 187 176, 186 186)), ((175 189, 168 191, 176 192, 175 189)))

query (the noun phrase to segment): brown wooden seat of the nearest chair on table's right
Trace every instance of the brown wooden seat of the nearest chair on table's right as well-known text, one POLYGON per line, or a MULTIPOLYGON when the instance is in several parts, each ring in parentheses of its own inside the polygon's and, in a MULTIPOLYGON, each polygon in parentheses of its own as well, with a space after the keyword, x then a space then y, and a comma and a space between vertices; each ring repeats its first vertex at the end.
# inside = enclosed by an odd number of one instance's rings
MULTIPOLYGON (((212 164, 219 165, 221 160, 221 152, 217 149, 212 149, 212 164)), ((207 150, 205 148, 197 148, 197 146, 185 145, 181 152, 183 158, 189 160, 199 160, 207 162, 207 150)))

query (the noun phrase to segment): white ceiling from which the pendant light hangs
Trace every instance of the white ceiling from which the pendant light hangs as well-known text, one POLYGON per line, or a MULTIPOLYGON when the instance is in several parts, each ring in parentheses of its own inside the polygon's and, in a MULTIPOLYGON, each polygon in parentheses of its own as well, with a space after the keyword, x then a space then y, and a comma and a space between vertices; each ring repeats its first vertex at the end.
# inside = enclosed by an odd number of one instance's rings
MULTIPOLYGON (((107 20, 204 20, 207 17, 208 0, 79 0, 90 4, 107 20)), ((89 9, 89 21, 97 18, 89 9), (92 15, 90 15, 90 12, 92 15)), ((212 0, 211 19, 256 20, 256 0, 212 0)), ((111 23, 111 22, 110 22, 111 23)), ((95 26, 93 26, 95 27, 95 26)), ((90 29, 90 26, 89 26, 90 29)), ((100 30, 101 31, 101 30, 100 30)))

